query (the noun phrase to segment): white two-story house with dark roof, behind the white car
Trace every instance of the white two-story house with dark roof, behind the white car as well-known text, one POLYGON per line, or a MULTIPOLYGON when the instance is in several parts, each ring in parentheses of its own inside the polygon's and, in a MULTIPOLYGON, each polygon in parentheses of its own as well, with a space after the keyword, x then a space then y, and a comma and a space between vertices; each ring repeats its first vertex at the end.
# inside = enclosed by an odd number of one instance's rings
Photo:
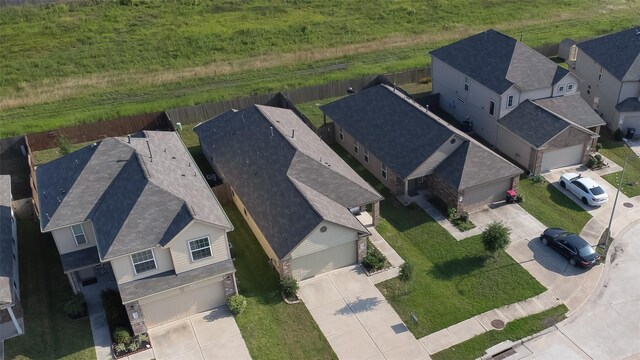
MULTIPOLYGON (((431 57, 433 92, 440 94, 440 107, 458 121, 468 122, 473 132, 504 153, 512 150, 505 148, 512 144, 510 139, 499 139, 504 131, 501 131, 498 120, 521 103, 554 98, 557 100, 537 104, 542 108, 549 105, 563 109, 562 116, 573 116, 566 109, 582 102, 577 93, 578 78, 575 75, 522 42, 495 30, 436 49, 431 52, 431 57)), ((583 105, 576 117, 568 120, 597 136, 604 122, 597 117, 583 121, 582 110, 587 107, 583 105)), ((553 112, 554 109, 546 110, 553 112)), ((535 122, 524 122, 523 125, 529 132, 535 132, 539 127, 535 122)), ((536 149, 539 160, 515 160, 534 173, 540 171, 545 152, 545 171, 579 164, 588 158, 594 143, 590 136, 562 139, 536 149), (551 158, 557 160, 552 162, 551 158)), ((527 142, 526 139, 521 140, 527 142)))

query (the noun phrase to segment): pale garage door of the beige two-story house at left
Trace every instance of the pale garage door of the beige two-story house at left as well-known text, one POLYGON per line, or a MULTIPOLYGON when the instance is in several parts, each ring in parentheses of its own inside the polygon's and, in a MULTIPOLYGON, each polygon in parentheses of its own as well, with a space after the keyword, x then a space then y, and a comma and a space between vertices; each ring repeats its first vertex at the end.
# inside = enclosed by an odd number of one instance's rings
POLYGON ((226 302, 221 279, 203 281, 140 300, 148 328, 223 305, 226 302))

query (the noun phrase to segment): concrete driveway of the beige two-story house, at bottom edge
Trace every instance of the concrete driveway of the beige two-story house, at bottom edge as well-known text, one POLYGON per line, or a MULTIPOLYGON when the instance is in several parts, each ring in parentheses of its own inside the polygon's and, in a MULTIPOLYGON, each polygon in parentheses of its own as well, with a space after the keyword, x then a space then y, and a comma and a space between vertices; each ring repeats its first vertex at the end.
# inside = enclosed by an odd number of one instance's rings
POLYGON ((155 359, 251 359, 226 307, 149 330, 155 359))

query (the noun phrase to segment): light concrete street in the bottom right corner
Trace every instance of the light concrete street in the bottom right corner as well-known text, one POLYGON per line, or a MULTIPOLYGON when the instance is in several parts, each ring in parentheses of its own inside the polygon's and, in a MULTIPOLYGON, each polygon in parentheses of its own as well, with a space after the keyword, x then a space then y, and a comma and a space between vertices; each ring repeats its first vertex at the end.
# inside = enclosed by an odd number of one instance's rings
POLYGON ((640 359, 640 223, 613 243, 588 302, 556 329, 525 342, 512 359, 640 359))

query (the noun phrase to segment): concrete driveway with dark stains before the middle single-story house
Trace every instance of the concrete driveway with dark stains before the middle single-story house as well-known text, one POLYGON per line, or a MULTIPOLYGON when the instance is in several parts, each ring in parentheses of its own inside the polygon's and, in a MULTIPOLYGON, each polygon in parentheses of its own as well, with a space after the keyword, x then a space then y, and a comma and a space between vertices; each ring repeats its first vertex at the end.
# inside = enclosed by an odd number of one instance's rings
POLYGON ((340 359, 429 359, 360 266, 303 281, 298 294, 340 359))

